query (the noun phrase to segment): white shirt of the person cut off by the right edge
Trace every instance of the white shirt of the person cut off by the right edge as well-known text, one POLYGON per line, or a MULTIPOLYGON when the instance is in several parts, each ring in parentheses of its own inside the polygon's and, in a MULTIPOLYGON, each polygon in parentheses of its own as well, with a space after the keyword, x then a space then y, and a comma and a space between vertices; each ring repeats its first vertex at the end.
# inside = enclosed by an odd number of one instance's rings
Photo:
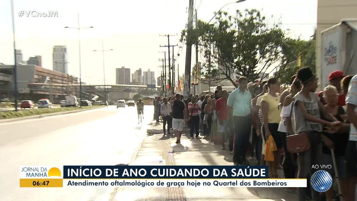
MULTIPOLYGON (((348 85, 346 104, 355 105, 355 112, 357 113, 357 75, 353 76, 350 84, 348 85)), ((352 123, 350 127, 350 140, 357 141, 357 129, 352 123)))

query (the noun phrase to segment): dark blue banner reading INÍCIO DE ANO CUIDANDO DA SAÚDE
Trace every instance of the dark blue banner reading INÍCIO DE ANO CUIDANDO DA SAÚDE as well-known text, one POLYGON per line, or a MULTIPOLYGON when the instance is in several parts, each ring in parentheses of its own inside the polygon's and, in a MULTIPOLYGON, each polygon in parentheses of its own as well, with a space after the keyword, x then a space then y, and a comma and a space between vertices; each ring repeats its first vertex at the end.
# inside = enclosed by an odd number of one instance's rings
POLYGON ((268 166, 63 166, 64 179, 268 178, 268 166))

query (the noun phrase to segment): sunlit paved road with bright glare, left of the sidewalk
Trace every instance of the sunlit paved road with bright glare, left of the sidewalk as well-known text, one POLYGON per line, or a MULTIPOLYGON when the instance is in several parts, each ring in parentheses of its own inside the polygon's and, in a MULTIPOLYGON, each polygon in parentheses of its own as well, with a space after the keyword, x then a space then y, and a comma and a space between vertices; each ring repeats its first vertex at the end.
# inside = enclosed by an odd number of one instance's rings
POLYGON ((111 188, 20 188, 20 165, 129 163, 153 116, 145 108, 109 106, 73 114, 0 123, 0 200, 108 200, 111 188))

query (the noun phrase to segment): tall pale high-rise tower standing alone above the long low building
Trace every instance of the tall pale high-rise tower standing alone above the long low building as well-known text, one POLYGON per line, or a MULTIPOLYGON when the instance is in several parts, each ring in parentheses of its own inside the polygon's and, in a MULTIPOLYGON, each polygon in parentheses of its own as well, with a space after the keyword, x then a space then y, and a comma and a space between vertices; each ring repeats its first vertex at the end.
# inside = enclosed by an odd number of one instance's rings
POLYGON ((67 47, 56 45, 53 47, 52 52, 53 70, 67 74, 68 68, 68 54, 67 47))

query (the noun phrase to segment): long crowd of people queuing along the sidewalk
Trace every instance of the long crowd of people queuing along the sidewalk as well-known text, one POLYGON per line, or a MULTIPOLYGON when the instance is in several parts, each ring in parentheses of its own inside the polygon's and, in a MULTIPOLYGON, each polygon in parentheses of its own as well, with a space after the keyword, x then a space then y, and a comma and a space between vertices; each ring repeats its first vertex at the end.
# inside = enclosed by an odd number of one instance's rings
MULTIPOLYGON (((280 178, 278 170, 282 169, 285 178, 310 179, 318 170, 313 166, 332 165, 326 171, 336 182, 335 157, 339 193, 343 200, 355 200, 357 75, 345 76, 336 70, 328 80, 329 85, 316 92, 318 79, 310 68, 299 69, 285 90, 277 78, 248 87, 248 79, 240 77, 238 87, 229 94, 221 86, 214 94, 190 94, 186 100, 177 93, 163 98, 158 111, 164 133, 170 134, 172 128, 176 143, 181 143, 186 124, 190 139, 202 136, 221 149, 228 144, 234 165, 267 165, 270 178, 280 178), (302 135, 308 136, 306 144, 292 140, 302 135), (302 151, 293 150, 296 147, 302 151), (251 164, 254 156, 257 162, 251 164)), ((286 190, 297 193, 301 201, 320 200, 310 181, 307 185, 286 190)), ((323 196, 332 200, 336 193, 330 188, 323 196)))

